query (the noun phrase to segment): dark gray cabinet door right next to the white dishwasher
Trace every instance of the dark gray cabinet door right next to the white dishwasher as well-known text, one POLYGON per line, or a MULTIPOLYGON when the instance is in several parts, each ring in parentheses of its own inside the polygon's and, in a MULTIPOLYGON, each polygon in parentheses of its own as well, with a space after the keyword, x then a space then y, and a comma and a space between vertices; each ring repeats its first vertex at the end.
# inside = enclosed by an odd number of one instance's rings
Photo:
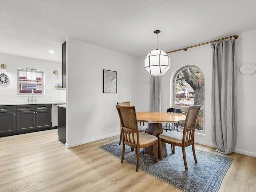
POLYGON ((36 111, 36 128, 52 126, 52 110, 36 111))

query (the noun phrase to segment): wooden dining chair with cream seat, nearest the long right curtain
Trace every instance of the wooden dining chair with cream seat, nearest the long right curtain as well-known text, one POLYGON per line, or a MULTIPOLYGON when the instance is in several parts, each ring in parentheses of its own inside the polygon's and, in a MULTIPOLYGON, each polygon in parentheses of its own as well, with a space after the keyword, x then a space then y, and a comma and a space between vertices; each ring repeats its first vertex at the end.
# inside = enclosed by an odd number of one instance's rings
MULTIPOLYGON (((172 153, 175 153, 175 146, 182 147, 182 154, 184 160, 185 169, 188 170, 188 165, 186 161, 186 147, 192 145, 192 151, 194 155, 194 160, 196 160, 196 153, 195 153, 195 143, 194 143, 194 136, 195 136, 195 126, 196 120, 198 116, 198 112, 201 106, 189 106, 188 112, 186 115, 186 120, 184 122, 184 129, 183 133, 176 132, 176 131, 168 131, 160 134, 158 136, 158 144, 159 148, 162 147, 162 142, 166 142, 171 144, 172 153)), ((159 160, 162 160, 162 152, 159 151, 159 160)))

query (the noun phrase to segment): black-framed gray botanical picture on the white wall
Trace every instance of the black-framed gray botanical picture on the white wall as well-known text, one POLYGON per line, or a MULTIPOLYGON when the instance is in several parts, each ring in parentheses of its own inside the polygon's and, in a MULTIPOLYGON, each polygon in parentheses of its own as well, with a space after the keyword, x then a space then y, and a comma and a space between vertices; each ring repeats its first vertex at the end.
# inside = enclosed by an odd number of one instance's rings
POLYGON ((103 93, 117 93, 117 72, 103 70, 103 93))

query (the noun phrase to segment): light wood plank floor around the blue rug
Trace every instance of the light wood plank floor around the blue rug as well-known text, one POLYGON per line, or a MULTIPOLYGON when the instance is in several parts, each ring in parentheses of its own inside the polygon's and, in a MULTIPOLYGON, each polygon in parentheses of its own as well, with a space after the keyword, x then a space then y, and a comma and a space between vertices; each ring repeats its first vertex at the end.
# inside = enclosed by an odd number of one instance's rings
MULTIPOLYGON (((180 192, 98 148, 118 139, 115 136, 67 149, 58 141, 56 129, 0 138, 0 191, 180 192)), ((200 144, 196 148, 217 153, 200 144)), ((255 192, 256 158, 238 153, 228 156, 234 161, 219 191, 255 192)))

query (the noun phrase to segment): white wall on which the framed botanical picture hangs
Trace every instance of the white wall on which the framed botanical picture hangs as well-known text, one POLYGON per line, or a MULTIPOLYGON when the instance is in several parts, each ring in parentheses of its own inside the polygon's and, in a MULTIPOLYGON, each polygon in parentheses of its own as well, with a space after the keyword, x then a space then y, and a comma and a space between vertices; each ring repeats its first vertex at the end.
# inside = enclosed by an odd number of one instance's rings
POLYGON ((66 45, 66 147, 119 135, 116 102, 130 101, 142 110, 142 60, 71 38, 66 45), (103 69, 117 71, 117 93, 102 92, 103 69))

